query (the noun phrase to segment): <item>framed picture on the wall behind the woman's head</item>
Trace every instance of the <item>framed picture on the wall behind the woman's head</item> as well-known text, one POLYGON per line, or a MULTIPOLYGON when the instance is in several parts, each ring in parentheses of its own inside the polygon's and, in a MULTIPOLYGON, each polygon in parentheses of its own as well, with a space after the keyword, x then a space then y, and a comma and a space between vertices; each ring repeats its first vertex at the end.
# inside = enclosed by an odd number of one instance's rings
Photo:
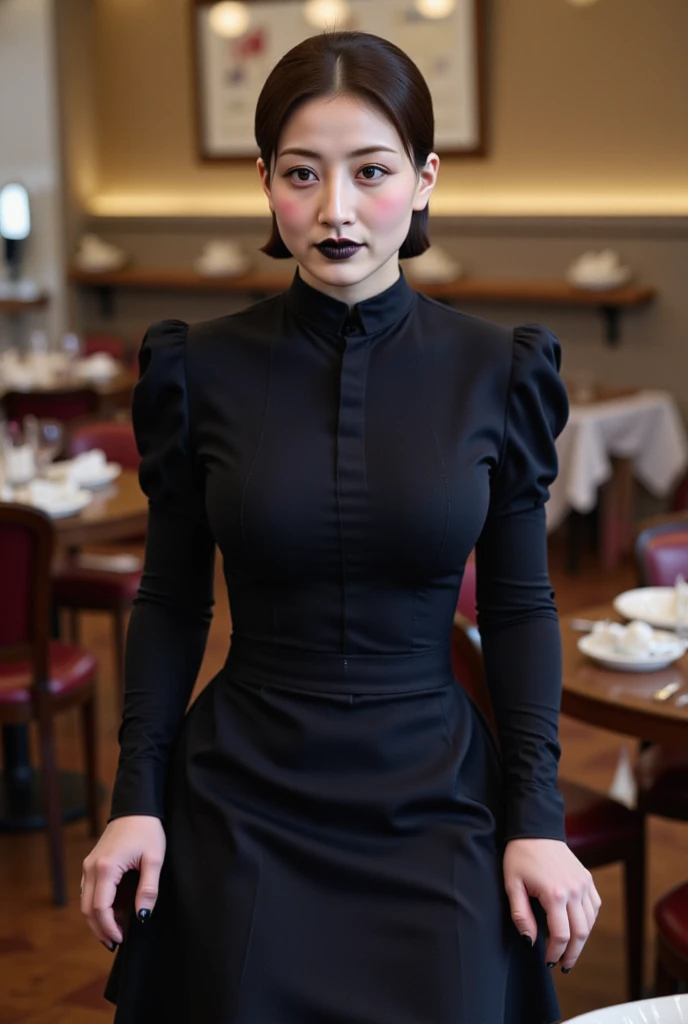
POLYGON ((202 160, 258 156, 253 118, 265 79, 287 50, 326 27, 371 32, 400 46, 430 87, 436 152, 484 155, 483 0, 190 3, 202 160))

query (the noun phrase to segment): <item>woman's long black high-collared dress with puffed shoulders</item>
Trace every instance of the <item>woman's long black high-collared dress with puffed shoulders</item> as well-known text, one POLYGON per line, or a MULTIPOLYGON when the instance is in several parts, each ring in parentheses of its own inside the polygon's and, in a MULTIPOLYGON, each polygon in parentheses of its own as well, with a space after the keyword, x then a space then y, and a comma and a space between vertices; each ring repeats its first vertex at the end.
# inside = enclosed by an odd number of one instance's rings
POLYGON ((164 819, 118 1024, 546 1024, 506 841, 564 839, 544 502, 556 339, 413 291, 149 329, 150 502, 112 816, 164 819), (231 649, 186 716, 223 557, 231 649), (451 676, 476 548, 501 753, 451 676))

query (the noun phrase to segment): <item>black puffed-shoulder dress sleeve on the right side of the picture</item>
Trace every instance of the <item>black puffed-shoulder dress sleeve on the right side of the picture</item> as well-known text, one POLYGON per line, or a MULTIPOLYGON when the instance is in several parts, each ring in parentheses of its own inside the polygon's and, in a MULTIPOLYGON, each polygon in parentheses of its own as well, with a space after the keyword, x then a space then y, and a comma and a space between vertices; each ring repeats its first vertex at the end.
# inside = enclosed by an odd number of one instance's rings
POLYGON ((476 545, 478 626, 506 775, 505 839, 565 839, 557 788, 561 638, 547 564, 545 502, 568 415, 556 338, 513 337, 490 506, 476 545))

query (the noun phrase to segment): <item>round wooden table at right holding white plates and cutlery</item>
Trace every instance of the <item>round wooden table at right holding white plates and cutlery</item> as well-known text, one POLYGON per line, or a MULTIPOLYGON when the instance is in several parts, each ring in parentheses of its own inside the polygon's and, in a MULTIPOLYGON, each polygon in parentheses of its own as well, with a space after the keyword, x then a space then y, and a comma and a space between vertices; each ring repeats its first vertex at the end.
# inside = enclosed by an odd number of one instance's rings
POLYGON ((688 693, 688 654, 657 672, 616 672, 602 669, 577 649, 580 633, 570 628, 572 618, 611 618, 622 622, 611 604, 584 608, 561 620, 563 694, 561 710, 571 718, 613 732, 626 733, 666 746, 688 741, 688 706, 676 699, 688 693), (681 688, 669 700, 652 699, 662 686, 678 682, 681 688))

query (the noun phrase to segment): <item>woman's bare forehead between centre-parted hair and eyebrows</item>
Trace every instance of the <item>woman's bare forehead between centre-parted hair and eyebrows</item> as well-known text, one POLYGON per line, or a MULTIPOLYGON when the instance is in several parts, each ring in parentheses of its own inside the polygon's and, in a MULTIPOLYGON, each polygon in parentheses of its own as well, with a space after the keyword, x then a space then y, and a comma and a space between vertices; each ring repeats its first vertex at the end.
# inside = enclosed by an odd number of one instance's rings
POLYGON ((394 125, 372 103, 358 96, 321 96, 302 103, 289 118, 277 156, 290 146, 335 155, 375 144, 405 152, 394 125))

